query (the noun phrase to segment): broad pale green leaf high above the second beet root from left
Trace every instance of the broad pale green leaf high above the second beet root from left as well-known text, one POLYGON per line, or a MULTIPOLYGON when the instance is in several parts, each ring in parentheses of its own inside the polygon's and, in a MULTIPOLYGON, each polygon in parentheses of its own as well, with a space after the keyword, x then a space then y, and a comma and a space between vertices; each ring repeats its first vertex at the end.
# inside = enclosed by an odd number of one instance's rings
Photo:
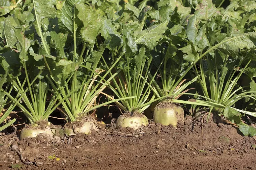
POLYGON ((102 19, 98 13, 85 4, 76 5, 78 18, 83 22, 81 36, 93 48, 94 41, 102 27, 102 19))

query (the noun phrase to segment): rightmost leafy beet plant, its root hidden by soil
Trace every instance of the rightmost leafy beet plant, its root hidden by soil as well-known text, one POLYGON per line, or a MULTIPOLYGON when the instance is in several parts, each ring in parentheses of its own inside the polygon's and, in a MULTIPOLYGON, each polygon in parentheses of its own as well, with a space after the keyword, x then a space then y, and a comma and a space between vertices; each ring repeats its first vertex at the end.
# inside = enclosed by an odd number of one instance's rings
MULTIPOLYGON (((223 13, 227 14, 227 11, 223 13)), ((196 6, 186 32, 188 40, 193 42, 193 56, 200 56, 200 69, 197 69, 194 62, 193 70, 199 77, 198 83, 203 92, 199 97, 204 100, 196 102, 210 108, 208 118, 211 111, 217 109, 224 117, 235 122, 245 135, 254 136, 255 129, 241 121, 241 113, 254 117, 256 113, 240 110, 235 105, 244 98, 255 100, 253 86, 248 90, 238 84, 249 63, 256 59, 256 33, 250 32, 252 14, 251 10, 242 13, 242 22, 237 18, 227 20, 227 15, 223 17, 211 1, 206 0, 196 6)), ((181 50, 189 55, 187 48, 181 50)))

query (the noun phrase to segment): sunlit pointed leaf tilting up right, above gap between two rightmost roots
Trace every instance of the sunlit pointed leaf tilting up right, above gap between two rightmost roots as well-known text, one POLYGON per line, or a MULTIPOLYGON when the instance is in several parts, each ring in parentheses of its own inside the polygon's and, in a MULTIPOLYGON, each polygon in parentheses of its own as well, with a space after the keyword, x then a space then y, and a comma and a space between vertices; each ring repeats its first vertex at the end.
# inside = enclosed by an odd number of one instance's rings
POLYGON ((149 49, 153 49, 158 41, 162 38, 163 33, 167 30, 168 21, 155 24, 143 31, 137 32, 136 43, 146 45, 149 49))

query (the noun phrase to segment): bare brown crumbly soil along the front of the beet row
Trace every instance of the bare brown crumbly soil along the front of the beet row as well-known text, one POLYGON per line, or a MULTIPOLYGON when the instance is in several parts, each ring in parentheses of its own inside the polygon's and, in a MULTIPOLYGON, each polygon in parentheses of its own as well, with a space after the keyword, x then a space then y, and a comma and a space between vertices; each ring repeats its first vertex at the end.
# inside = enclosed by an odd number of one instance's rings
POLYGON ((178 124, 176 129, 154 122, 136 131, 101 128, 89 136, 78 134, 53 142, 44 136, 20 141, 15 133, 2 134, 0 169, 255 170, 256 138, 243 137, 217 116, 208 123, 206 118, 192 121, 186 116, 185 125, 178 124), (23 164, 19 153, 26 163, 34 164, 23 164))

